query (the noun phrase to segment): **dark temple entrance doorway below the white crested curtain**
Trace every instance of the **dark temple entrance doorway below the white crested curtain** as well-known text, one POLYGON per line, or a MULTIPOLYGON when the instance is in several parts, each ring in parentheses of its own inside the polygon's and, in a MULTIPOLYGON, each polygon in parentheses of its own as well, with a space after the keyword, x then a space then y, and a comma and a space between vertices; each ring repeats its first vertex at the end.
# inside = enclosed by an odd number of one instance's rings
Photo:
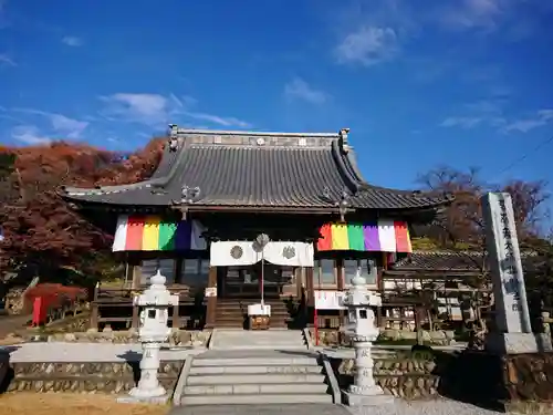
MULTIPOLYGON (((284 283, 282 267, 265 261, 264 297, 279 298, 284 283)), ((261 299, 261 262, 253 266, 229 267, 225 284, 225 297, 261 299)))

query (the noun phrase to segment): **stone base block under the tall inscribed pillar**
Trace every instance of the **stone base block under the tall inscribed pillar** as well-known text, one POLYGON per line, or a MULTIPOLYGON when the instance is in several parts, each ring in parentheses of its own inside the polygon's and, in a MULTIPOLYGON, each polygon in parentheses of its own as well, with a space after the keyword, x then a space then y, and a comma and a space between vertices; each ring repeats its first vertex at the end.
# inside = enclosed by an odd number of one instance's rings
POLYGON ((495 354, 553 352, 551 335, 546 333, 498 333, 486 336, 486 350, 495 354))

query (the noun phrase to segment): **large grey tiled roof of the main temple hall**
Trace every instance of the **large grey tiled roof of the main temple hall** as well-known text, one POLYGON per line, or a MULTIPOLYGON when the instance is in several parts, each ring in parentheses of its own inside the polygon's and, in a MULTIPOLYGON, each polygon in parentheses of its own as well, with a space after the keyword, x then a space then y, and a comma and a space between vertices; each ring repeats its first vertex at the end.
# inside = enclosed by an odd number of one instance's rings
POLYGON ((353 208, 438 207, 447 196, 366 184, 347 135, 174 131, 148 180, 98 189, 65 188, 64 197, 85 203, 163 206, 178 203, 182 187, 198 188, 194 206, 335 209, 344 191, 353 208))

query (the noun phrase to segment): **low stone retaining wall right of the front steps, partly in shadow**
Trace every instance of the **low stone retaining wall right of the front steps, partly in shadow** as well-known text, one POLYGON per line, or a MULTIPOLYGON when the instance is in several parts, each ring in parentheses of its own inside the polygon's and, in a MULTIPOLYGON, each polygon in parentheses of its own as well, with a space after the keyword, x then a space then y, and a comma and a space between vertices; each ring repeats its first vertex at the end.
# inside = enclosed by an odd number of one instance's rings
MULTIPOLYGON (((341 387, 353 382, 353 359, 331 359, 341 387)), ((484 352, 398 352, 375 356, 383 390, 408 400, 447 396, 488 408, 520 403, 553 404, 553 353, 492 355, 484 352)))

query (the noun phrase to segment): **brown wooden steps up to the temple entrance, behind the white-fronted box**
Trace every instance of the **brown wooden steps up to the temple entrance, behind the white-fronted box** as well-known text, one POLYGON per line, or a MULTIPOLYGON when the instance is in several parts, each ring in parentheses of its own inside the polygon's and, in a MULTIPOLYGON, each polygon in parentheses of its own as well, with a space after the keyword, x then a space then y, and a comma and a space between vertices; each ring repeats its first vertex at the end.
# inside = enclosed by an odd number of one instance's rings
MULTIPOLYGON (((246 329, 248 305, 258 303, 259 299, 217 299, 216 328, 246 329)), ((271 328, 288 328, 290 313, 281 299, 265 299, 271 305, 271 328)))

